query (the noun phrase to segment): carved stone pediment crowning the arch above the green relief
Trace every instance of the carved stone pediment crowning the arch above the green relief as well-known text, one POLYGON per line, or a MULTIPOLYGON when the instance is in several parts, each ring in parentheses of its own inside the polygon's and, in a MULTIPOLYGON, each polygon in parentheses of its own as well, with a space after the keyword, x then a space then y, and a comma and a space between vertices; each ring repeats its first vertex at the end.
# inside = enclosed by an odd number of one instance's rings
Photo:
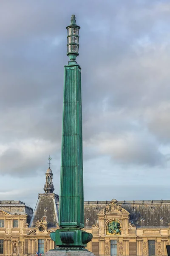
POLYGON ((116 199, 112 199, 111 203, 108 204, 104 209, 102 209, 98 215, 100 214, 108 214, 108 213, 115 213, 115 214, 125 214, 129 215, 129 212, 122 208, 116 199))

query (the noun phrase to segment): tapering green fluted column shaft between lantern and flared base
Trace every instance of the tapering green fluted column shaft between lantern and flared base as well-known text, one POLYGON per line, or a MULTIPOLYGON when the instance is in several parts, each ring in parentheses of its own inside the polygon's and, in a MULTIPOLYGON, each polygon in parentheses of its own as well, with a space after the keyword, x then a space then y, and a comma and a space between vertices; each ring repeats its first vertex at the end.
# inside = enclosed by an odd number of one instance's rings
POLYGON ((65 65, 59 226, 84 227, 81 67, 65 65))

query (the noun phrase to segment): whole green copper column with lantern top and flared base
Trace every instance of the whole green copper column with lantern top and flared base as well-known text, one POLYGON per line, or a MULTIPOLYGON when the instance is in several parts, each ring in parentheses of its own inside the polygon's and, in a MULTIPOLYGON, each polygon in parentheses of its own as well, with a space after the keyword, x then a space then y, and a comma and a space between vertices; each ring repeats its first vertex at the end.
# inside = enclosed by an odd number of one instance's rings
POLYGON ((91 233, 84 227, 83 161, 82 161, 82 99, 81 67, 77 64, 79 55, 79 29, 75 15, 67 26, 67 55, 65 65, 62 155, 60 178, 59 226, 51 238, 59 247, 86 247, 91 233))

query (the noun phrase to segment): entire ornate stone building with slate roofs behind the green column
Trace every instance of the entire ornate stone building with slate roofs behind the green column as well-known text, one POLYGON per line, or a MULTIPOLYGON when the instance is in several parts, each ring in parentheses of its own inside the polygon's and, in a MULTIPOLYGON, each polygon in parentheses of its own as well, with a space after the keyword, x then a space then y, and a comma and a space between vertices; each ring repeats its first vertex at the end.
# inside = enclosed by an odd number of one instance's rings
MULTIPOLYGON (((21 201, 0 201, 0 255, 33 256, 55 244, 59 196, 52 171, 45 173, 44 193, 33 209, 21 201)), ((87 249, 96 256, 164 256, 170 243, 170 201, 85 201, 85 231, 93 234, 87 249)))

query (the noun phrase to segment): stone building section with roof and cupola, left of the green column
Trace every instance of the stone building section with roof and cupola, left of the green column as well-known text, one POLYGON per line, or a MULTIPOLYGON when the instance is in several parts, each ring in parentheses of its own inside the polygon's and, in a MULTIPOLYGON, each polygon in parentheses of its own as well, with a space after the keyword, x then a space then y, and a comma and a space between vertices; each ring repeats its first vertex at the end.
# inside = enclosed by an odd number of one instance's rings
POLYGON ((33 209, 21 201, 0 201, 0 255, 28 256, 54 248, 50 233, 58 225, 57 201, 53 173, 45 173, 45 193, 38 195, 33 209))

